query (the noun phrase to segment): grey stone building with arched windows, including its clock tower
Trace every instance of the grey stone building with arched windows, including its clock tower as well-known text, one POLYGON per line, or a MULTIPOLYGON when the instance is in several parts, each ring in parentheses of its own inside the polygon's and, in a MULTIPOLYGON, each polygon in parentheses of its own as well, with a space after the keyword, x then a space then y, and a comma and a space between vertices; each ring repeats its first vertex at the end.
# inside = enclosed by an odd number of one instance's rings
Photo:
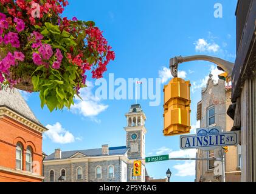
POLYGON ((139 104, 131 105, 125 114, 127 124, 126 146, 63 152, 56 149, 44 159, 44 181, 68 182, 144 182, 142 176, 133 176, 133 161, 145 158, 146 116, 139 104))

